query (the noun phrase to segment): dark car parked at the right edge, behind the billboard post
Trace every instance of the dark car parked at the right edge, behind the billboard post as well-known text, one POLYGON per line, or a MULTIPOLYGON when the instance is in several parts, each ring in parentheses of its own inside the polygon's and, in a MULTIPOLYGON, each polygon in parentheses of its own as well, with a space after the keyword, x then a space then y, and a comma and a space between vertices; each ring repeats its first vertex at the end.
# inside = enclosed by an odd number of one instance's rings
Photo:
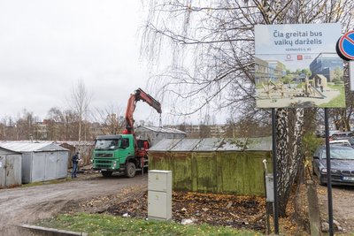
MULTIPOLYGON (((354 148, 331 145, 330 157, 332 184, 354 185, 354 148)), ((319 184, 326 184, 326 146, 320 146, 313 154, 312 168, 319 178, 319 184)))

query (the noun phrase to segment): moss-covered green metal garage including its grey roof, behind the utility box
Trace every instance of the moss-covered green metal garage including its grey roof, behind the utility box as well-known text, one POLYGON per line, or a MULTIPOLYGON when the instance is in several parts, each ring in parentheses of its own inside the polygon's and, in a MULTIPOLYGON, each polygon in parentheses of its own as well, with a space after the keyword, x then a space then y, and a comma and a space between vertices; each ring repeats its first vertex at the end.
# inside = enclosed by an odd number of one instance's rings
POLYGON ((173 171, 173 189, 263 195, 272 138, 165 139, 149 149, 150 170, 173 171))

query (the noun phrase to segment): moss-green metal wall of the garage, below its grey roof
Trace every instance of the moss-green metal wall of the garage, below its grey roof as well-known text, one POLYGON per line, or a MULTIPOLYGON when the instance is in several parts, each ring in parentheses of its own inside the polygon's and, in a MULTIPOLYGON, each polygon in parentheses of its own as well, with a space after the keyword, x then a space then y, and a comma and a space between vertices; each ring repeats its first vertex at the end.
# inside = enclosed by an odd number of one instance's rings
POLYGON ((263 159, 270 151, 150 151, 150 170, 173 171, 173 189, 264 195, 263 159))

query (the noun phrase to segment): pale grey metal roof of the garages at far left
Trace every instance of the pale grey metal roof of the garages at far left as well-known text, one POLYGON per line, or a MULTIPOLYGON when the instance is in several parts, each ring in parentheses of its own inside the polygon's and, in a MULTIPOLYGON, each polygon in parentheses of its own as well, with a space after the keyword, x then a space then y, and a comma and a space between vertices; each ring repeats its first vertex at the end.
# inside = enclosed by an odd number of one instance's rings
POLYGON ((29 141, 1 141, 1 148, 6 148, 16 152, 35 152, 35 151, 61 151, 66 148, 60 147, 52 141, 29 142, 29 141))

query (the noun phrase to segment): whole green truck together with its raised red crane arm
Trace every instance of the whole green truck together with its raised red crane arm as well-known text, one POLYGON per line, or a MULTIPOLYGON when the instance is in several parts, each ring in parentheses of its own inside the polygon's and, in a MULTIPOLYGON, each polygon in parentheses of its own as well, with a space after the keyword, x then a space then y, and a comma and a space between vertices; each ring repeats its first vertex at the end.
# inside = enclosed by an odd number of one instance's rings
POLYGON ((101 171, 104 177, 110 177, 117 171, 124 172, 131 178, 135 176, 136 171, 149 164, 147 152, 150 144, 148 141, 137 139, 134 128, 133 113, 138 101, 148 103, 157 110, 161 123, 161 104, 141 88, 135 90, 127 103, 126 129, 123 134, 100 135, 96 138, 92 155, 93 169, 101 171))

